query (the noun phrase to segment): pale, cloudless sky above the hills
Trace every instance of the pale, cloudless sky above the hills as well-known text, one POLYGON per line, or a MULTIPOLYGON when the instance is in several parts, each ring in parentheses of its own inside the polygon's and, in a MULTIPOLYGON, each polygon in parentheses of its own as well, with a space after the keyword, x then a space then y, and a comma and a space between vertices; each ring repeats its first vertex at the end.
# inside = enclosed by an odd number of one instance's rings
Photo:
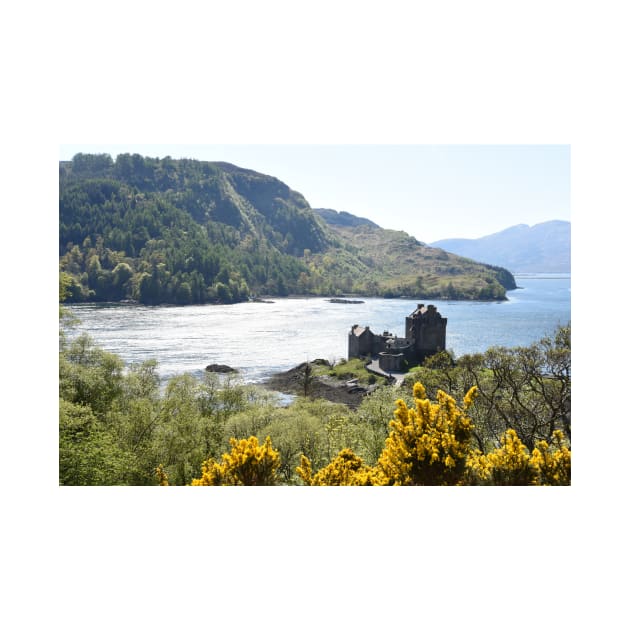
POLYGON ((431 243, 570 220, 570 146, 411 144, 67 144, 76 153, 231 162, 332 208, 431 243))

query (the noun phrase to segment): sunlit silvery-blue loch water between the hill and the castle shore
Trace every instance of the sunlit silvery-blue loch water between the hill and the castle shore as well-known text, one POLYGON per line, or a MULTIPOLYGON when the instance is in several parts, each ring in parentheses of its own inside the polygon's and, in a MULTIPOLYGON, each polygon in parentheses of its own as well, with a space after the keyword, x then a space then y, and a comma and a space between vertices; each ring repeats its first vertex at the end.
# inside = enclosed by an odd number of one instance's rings
MULTIPOLYGON (((518 289, 502 302, 425 300, 448 318, 446 347, 456 356, 491 346, 521 346, 552 335, 571 320, 571 277, 517 276, 518 289)), ((76 304, 70 337, 88 333, 127 364, 158 361, 163 379, 190 372, 201 376, 211 363, 239 370, 257 383, 298 363, 347 356, 353 324, 404 336, 405 317, 417 299, 353 297, 361 304, 327 298, 273 298, 272 303, 203 306, 76 304)))

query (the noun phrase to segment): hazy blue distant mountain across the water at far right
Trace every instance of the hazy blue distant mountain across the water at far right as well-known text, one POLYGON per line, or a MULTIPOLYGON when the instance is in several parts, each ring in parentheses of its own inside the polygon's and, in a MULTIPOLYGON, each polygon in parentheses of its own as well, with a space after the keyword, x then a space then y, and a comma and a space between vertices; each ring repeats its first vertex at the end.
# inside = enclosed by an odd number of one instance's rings
POLYGON ((514 225, 477 239, 451 238, 431 243, 448 252, 499 265, 512 273, 569 273, 571 223, 546 221, 514 225))

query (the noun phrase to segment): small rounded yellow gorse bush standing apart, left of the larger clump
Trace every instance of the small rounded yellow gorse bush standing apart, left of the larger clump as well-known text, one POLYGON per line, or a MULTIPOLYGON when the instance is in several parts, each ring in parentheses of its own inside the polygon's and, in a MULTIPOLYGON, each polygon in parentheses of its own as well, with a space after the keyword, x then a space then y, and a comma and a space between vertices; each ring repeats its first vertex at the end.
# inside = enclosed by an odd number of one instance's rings
POLYGON ((263 444, 252 436, 230 440, 232 450, 221 455, 221 463, 209 459, 201 465, 201 477, 193 486, 272 486, 280 466, 280 454, 267 437, 263 444))

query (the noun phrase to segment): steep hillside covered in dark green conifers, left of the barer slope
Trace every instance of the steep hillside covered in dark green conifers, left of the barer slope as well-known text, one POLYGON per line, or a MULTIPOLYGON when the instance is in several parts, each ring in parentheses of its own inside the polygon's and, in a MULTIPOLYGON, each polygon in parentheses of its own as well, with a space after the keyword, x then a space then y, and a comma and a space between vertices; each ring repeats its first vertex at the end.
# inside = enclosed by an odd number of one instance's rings
POLYGON ((274 178, 194 160, 101 157, 61 167, 60 267, 77 286, 71 301, 295 292, 308 274, 297 256, 327 245, 303 197, 274 178))

